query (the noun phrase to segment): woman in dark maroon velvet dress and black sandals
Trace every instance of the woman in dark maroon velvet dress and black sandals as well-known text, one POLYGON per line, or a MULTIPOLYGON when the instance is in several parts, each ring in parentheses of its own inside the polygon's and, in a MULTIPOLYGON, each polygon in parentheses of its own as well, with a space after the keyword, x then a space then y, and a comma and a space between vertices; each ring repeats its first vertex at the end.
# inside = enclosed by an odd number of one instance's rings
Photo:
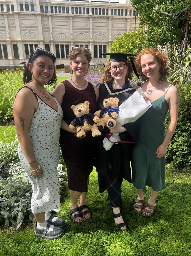
POLYGON ((71 190, 71 219, 75 223, 81 223, 83 219, 91 218, 91 211, 86 205, 86 194, 96 146, 91 131, 86 132, 85 138, 79 139, 74 136, 77 130, 69 128, 69 124, 76 117, 71 110, 71 105, 79 100, 88 100, 90 113, 94 113, 97 110, 96 100, 99 91, 84 78, 91 61, 91 52, 86 48, 74 48, 70 51, 68 58, 72 76, 58 84, 52 95, 61 105, 64 116, 61 124, 60 146, 68 173, 68 187, 71 190))

